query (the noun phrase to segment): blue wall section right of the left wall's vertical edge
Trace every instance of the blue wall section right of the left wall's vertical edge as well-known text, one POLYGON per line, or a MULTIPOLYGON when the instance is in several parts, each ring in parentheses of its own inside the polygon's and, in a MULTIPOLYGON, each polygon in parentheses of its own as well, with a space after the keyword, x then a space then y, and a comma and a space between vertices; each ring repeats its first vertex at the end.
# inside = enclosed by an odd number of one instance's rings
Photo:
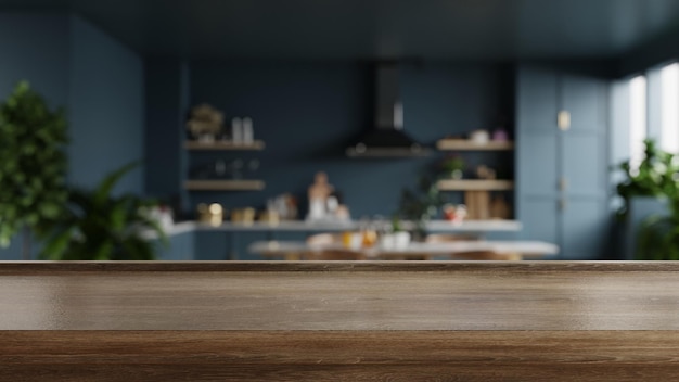
MULTIPOLYGON (((69 180, 92 187, 124 164, 143 160, 143 62, 88 22, 69 21, 69 180)), ((143 192, 143 168, 124 177, 116 191, 143 192)))

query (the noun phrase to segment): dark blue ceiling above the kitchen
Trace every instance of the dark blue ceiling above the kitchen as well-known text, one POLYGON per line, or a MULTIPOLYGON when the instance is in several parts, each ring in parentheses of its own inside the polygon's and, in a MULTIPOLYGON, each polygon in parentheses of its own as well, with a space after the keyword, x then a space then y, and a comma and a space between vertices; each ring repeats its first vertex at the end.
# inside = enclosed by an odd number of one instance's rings
POLYGON ((678 0, 0 0, 0 10, 72 11, 144 55, 188 59, 611 59, 679 30, 678 0))

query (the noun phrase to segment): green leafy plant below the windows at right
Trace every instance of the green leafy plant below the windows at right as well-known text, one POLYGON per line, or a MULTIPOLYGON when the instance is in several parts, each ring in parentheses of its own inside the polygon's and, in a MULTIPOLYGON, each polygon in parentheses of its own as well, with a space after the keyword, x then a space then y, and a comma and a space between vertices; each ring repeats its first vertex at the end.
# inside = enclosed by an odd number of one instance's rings
POLYGON ((666 196, 671 200, 679 198, 679 158, 664 152, 651 139, 644 140, 644 158, 637 171, 631 169, 629 162, 622 163, 618 168, 625 173, 626 179, 617 184, 617 193, 624 200, 618 217, 625 218, 632 196, 666 196))

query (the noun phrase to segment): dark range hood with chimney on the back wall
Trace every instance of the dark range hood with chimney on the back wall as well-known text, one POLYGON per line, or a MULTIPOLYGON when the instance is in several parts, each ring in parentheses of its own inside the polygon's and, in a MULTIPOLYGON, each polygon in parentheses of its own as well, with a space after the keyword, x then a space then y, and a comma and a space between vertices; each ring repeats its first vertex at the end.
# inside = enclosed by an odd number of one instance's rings
POLYGON ((354 145, 347 148, 349 157, 424 156, 430 150, 403 131, 403 105, 399 91, 397 64, 376 67, 375 122, 354 145))

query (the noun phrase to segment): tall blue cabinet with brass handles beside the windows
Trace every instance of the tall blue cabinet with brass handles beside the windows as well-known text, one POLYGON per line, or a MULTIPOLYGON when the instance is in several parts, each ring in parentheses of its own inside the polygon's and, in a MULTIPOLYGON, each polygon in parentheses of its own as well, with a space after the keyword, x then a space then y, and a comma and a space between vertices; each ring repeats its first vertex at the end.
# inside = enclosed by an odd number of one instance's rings
POLYGON ((605 79, 518 68, 516 202, 524 239, 597 259, 608 237, 605 79))

